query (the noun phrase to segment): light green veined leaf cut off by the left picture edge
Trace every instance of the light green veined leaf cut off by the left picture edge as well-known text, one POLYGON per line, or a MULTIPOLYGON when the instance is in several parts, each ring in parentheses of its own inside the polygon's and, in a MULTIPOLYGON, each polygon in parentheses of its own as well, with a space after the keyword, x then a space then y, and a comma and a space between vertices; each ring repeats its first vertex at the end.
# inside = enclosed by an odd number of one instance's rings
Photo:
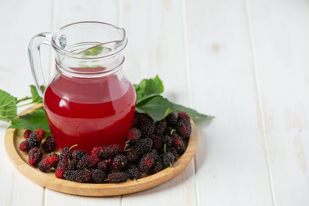
POLYGON ((0 89, 0 120, 12 121, 17 116, 17 98, 0 89))

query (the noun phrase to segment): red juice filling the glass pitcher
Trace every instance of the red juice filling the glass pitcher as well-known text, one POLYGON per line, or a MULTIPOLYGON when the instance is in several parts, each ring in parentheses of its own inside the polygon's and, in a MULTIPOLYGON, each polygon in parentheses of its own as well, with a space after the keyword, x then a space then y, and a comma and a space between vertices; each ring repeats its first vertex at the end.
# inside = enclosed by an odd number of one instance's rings
POLYGON ((44 108, 58 148, 90 153, 92 147, 120 144, 135 112, 133 85, 116 75, 71 78, 57 75, 44 93, 44 108))

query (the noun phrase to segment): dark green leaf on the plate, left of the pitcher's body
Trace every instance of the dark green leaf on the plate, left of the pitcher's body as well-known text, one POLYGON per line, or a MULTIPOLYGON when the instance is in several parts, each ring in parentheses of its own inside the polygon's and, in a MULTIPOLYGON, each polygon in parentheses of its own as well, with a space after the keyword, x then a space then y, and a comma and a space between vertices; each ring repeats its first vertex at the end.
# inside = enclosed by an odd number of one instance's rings
POLYGON ((29 130, 42 128, 45 132, 50 132, 44 108, 42 107, 33 113, 20 116, 18 119, 12 121, 12 124, 8 128, 29 130))

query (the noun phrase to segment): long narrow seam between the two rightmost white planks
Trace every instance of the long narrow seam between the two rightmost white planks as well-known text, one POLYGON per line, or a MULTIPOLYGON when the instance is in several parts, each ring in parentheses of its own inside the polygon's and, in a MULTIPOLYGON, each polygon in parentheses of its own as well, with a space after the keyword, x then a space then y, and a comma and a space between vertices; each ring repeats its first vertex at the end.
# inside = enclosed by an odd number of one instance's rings
POLYGON ((258 107, 260 110, 260 119, 262 123, 262 135, 264 138, 264 146, 265 146, 265 152, 267 155, 267 166, 268 166, 268 172, 269 172, 269 178, 270 178, 270 189, 271 189, 271 196, 272 196, 272 204, 273 206, 277 206, 276 203, 276 196, 274 191, 274 185, 273 185, 273 178, 272 178, 272 170, 270 166, 270 156, 269 156, 269 148, 268 148, 268 142, 267 142, 267 130, 266 130, 266 123, 265 123, 265 117, 264 117, 264 107, 262 103, 262 94, 260 89, 260 79, 258 74, 258 66, 257 66, 257 59, 256 59, 256 53, 255 53, 255 43, 254 43, 254 35, 253 35, 253 23, 252 23, 252 15, 250 12, 250 0, 245 0, 245 10, 246 10, 246 17, 247 17, 247 24, 248 24, 248 32, 249 32, 249 39, 250 39, 250 49, 251 49, 251 55, 252 55, 252 64, 253 64, 253 71, 254 71, 254 81, 255 81, 255 87, 256 92, 258 96, 258 107))

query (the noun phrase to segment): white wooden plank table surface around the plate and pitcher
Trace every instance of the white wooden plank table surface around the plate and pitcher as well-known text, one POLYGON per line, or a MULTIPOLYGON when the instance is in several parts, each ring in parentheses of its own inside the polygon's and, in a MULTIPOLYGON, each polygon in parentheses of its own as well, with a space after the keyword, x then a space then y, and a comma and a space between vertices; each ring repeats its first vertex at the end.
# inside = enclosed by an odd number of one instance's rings
POLYGON ((0 88, 30 94, 30 39, 86 20, 126 29, 132 82, 158 74, 166 97, 216 118, 196 122, 197 153, 177 177, 108 198, 28 180, 0 123, 0 206, 309 206, 308 0, 0 0, 0 88))

